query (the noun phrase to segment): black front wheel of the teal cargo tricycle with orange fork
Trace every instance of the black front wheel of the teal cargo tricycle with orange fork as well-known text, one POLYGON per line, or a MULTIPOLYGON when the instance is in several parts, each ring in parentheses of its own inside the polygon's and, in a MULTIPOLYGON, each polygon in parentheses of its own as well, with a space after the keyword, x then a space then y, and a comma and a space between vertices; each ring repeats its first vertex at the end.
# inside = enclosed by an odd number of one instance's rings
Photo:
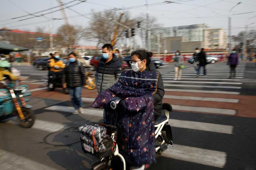
POLYGON ((36 116, 33 114, 31 109, 21 108, 21 111, 25 117, 24 120, 18 116, 18 123, 23 128, 31 128, 35 122, 36 116))

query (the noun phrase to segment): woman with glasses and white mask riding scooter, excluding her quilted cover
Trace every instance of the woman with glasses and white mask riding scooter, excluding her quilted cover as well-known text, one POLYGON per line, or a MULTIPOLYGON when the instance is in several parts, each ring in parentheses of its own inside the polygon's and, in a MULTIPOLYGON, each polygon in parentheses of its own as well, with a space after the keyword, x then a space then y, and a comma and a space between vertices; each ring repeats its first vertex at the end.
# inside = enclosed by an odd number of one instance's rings
MULTIPOLYGON (((159 72, 154 62, 151 61, 152 53, 146 52, 145 50, 136 50, 131 53, 131 68, 133 71, 137 72, 138 74, 142 71, 156 71, 159 72)), ((162 80, 161 74, 158 77, 157 83, 157 91, 153 95, 154 98, 154 114, 155 120, 161 115, 162 113, 162 99, 164 97, 164 82, 162 80)))

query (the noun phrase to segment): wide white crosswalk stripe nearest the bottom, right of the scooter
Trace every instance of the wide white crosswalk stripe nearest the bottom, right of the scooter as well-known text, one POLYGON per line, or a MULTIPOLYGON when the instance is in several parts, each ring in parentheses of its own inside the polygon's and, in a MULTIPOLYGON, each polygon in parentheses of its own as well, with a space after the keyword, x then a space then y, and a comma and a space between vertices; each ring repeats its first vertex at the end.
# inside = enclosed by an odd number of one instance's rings
POLYGON ((161 156, 223 168, 226 164, 227 154, 216 150, 174 144, 173 148, 168 148, 161 156))

